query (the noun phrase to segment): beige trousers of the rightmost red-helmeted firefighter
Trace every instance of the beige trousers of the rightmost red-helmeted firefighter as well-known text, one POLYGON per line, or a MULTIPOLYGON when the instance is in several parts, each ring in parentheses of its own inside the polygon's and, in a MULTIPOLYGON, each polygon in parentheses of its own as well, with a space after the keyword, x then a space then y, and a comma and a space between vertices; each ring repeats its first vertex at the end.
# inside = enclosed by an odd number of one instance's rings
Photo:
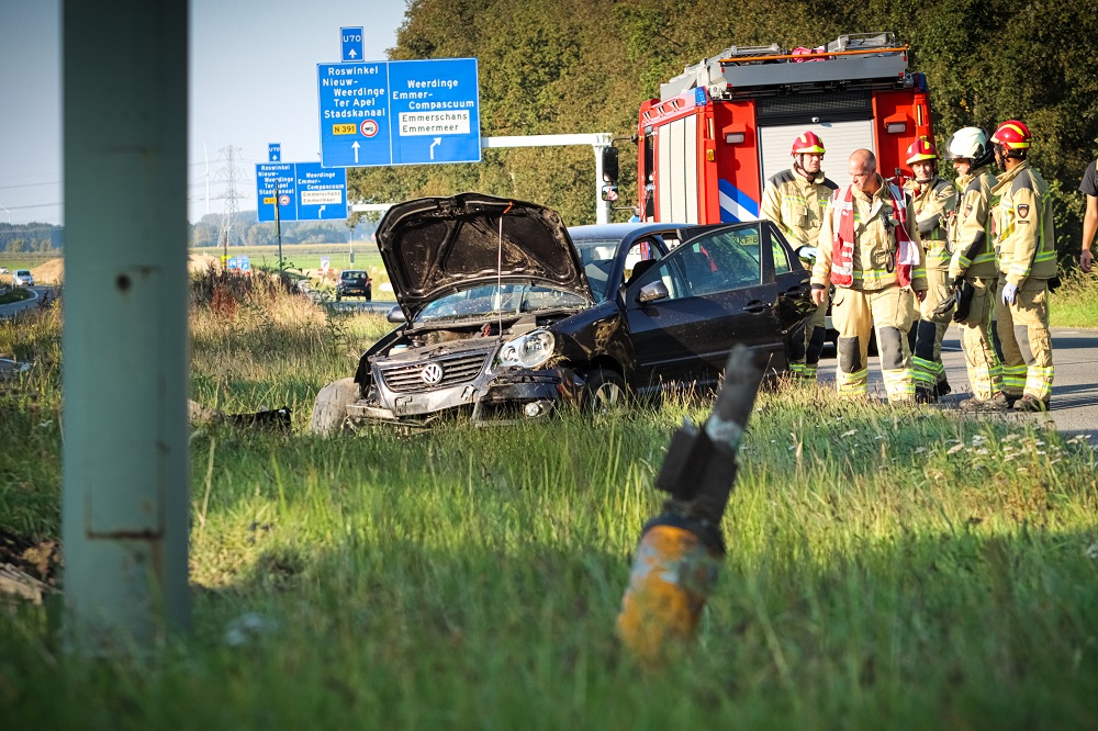
POLYGON ((1027 279, 1015 304, 1002 303, 1006 278, 995 290, 995 335, 1002 361, 1002 393, 1033 396, 1047 403, 1052 396, 1052 337, 1049 334, 1047 280, 1027 279))

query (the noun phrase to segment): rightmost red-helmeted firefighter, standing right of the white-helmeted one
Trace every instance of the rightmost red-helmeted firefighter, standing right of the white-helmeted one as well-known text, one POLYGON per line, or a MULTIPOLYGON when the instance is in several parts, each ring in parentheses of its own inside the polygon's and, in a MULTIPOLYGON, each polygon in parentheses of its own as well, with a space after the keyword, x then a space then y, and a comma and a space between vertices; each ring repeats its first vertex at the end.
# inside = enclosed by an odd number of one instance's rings
POLYGON ((1002 392, 1015 411, 1047 411, 1052 397, 1049 280, 1056 275, 1056 233, 1049 184, 1027 159, 1030 131, 1008 120, 991 135, 1004 170, 991 189, 999 281, 995 333, 1002 360, 1002 392))

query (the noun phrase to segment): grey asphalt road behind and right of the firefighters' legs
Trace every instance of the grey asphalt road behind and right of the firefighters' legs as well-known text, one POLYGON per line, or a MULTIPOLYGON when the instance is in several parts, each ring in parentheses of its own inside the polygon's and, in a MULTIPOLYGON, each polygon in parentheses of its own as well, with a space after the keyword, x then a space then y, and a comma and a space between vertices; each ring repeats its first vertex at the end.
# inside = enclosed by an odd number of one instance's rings
MULTIPOLYGON (((820 381, 834 382, 834 358, 820 361, 820 381)), ((972 395, 964 353, 961 351, 960 330, 950 327, 942 341, 942 362, 953 393, 942 398, 941 408, 956 408, 957 403, 972 395)), ((1010 414, 1001 418, 1051 421, 1066 437, 1093 435, 1091 445, 1098 445, 1098 329, 1052 329, 1052 363, 1056 369, 1052 384, 1052 409, 1047 414, 1010 414)), ((884 398, 884 383, 877 358, 870 358, 870 392, 884 398)), ((1000 418, 978 416, 976 418, 1000 418)))

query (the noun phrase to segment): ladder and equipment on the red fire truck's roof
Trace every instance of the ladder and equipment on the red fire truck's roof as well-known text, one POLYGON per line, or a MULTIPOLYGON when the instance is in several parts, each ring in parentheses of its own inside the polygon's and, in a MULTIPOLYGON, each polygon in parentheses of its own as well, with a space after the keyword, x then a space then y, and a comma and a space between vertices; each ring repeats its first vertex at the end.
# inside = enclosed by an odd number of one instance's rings
POLYGON ((827 50, 807 54, 791 54, 776 43, 729 46, 719 58, 706 58, 687 66, 682 74, 661 85, 660 100, 666 101, 698 87, 715 99, 724 99, 733 89, 751 87, 876 79, 903 81, 907 75, 907 49, 888 32, 840 35, 827 44, 827 50))

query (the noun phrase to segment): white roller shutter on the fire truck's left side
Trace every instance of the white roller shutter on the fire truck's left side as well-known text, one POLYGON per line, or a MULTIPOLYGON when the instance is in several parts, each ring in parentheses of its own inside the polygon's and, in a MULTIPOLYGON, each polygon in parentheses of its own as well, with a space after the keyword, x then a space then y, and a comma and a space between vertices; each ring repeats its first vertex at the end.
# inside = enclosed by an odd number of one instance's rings
POLYGON ((660 221, 697 223, 697 115, 657 127, 660 221))

